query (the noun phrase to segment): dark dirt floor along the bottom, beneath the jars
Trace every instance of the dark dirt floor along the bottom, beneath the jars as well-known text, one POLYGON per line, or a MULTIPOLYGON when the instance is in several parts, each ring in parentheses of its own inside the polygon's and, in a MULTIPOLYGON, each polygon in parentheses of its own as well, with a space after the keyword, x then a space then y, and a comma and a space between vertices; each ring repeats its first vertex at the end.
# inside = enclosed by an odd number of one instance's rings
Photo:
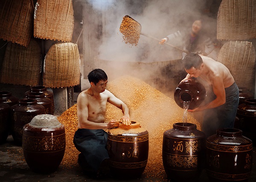
MULTIPOLYGON (((166 182, 168 179, 147 178, 142 174, 137 179, 115 179, 111 176, 94 178, 85 174, 79 165, 73 168, 59 166, 57 171, 49 174, 33 172, 27 165, 22 147, 15 145, 12 136, 9 135, 6 143, 0 145, 0 181, 1 182, 166 182)), ((253 171, 248 182, 256 181, 256 147, 253 147, 253 171)), ((201 173, 199 182, 209 182, 206 171, 201 173)))

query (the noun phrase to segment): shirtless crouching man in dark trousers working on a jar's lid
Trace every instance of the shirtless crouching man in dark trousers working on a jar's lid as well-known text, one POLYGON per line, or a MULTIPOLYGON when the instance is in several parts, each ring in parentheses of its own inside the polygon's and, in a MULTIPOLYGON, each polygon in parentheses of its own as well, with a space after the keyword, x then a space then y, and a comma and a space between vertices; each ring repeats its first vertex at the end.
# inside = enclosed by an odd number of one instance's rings
POLYGON ((78 129, 73 142, 79 154, 78 162, 87 172, 100 173, 107 166, 109 158, 106 149, 107 133, 104 128, 117 127, 119 122, 105 122, 107 102, 120 108, 123 117, 120 122, 131 124, 129 109, 124 102, 106 90, 108 76, 102 69, 94 69, 88 74, 90 88, 82 91, 77 99, 78 129))

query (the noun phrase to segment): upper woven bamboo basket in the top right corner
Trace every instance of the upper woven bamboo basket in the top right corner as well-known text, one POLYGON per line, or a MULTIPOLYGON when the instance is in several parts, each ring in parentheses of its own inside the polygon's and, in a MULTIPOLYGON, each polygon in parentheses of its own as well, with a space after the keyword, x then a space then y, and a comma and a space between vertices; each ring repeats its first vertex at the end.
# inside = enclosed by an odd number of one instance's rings
POLYGON ((217 17, 217 39, 253 38, 256 38, 256 0, 222 0, 217 17))

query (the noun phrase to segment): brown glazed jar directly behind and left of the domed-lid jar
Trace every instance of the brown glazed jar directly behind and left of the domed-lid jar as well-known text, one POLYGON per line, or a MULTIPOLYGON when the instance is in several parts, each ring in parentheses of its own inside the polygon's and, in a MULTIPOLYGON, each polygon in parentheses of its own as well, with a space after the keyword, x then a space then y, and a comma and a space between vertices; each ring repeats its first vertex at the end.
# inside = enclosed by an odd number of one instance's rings
POLYGON ((11 131, 17 145, 22 145, 23 126, 31 122, 33 117, 45 114, 45 108, 35 99, 21 99, 11 107, 11 131))

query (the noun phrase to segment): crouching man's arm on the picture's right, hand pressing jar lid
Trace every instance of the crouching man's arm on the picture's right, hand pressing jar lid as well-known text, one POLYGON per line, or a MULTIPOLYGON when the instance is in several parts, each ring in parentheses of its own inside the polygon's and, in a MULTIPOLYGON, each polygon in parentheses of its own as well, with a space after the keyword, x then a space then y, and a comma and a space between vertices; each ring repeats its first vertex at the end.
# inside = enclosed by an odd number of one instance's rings
POLYGON ((122 113, 124 114, 121 118, 122 122, 126 125, 131 124, 128 106, 122 102, 122 100, 114 96, 110 91, 105 90, 105 92, 108 94, 108 102, 122 110, 122 113))

